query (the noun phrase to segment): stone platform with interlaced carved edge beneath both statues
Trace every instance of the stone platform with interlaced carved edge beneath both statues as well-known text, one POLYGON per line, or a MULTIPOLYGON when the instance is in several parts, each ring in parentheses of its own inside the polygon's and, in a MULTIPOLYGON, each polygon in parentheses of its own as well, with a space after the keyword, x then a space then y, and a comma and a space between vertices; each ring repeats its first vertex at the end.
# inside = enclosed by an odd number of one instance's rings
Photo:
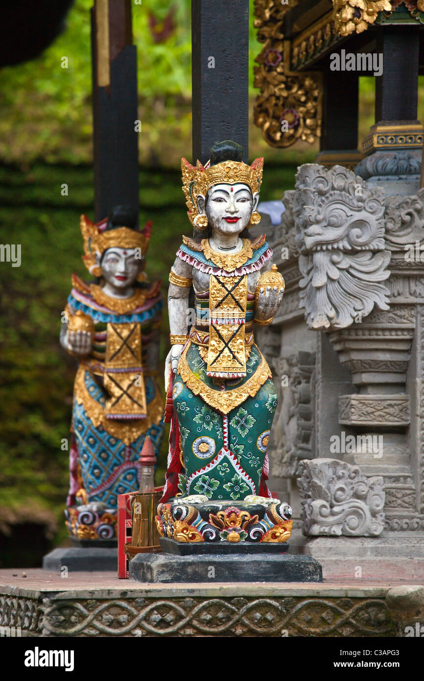
POLYGON ((111 572, 23 574, 0 570, 0 626, 27 637, 395 637, 408 617, 424 624, 424 577, 157 585, 111 572))

